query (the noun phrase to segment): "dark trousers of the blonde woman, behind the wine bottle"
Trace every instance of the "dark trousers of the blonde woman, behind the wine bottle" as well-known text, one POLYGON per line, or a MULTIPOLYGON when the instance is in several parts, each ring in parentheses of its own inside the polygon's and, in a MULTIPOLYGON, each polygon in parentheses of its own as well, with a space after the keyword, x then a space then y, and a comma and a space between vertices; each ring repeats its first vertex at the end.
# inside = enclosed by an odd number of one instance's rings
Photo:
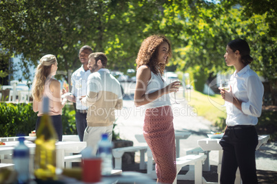
MULTIPOLYGON (((61 122, 61 115, 51 115, 52 118, 52 124, 54 126, 54 129, 56 130, 56 133, 58 135, 59 141, 63 140, 63 123, 61 122)), ((36 123, 36 133, 39 128, 39 124, 41 123, 41 116, 37 117, 37 123, 36 123)))

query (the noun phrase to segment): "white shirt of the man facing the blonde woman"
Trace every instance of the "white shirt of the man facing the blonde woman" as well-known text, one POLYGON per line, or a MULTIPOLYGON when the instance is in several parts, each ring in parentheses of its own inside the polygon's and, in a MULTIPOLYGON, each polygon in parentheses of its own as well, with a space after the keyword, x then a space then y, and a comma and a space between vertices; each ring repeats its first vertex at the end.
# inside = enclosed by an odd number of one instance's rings
POLYGON ((83 106, 79 100, 79 96, 87 95, 87 81, 88 76, 90 76, 90 70, 85 71, 83 65, 74 71, 71 76, 72 81, 72 95, 76 97, 76 109, 78 110, 87 110, 88 107, 83 106))

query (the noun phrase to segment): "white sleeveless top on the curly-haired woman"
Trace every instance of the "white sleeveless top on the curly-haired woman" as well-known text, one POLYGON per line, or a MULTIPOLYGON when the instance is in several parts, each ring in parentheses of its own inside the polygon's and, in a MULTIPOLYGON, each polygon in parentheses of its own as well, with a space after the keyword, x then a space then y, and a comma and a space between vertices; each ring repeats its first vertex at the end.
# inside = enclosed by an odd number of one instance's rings
MULTIPOLYGON (((162 76, 160 73, 156 75, 151 71, 151 78, 147 84, 147 88, 145 91, 145 94, 154 93, 155 91, 158 91, 159 89, 163 89, 166 87, 167 84, 165 80, 162 79, 162 76)), ((150 102, 148 104, 145 104, 145 108, 156 108, 160 106, 170 106, 170 95, 162 95, 158 99, 154 100, 153 102, 150 102)))

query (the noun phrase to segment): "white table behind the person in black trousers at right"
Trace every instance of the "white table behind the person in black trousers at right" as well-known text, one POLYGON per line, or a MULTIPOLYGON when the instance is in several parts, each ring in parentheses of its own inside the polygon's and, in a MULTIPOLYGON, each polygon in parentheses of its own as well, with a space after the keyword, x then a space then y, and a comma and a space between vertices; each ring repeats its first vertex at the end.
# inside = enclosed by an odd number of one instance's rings
MULTIPOLYGON (((269 137, 270 137, 269 135, 259 135, 258 136, 258 145, 256 147, 256 150, 258 150, 258 148, 260 148, 260 146, 262 146, 264 143, 267 143, 269 137)), ((218 170, 217 170, 218 183, 220 181, 220 170, 221 170, 221 163, 222 163, 222 157, 223 157, 223 149, 220 146, 219 141, 220 141, 220 139, 211 139, 211 138, 201 139, 201 140, 197 141, 198 145, 203 150, 217 150, 218 151, 218 170)), ((240 184, 240 183, 242 183, 242 181, 240 179, 240 172, 239 172, 239 170, 237 170, 235 184, 240 184)))

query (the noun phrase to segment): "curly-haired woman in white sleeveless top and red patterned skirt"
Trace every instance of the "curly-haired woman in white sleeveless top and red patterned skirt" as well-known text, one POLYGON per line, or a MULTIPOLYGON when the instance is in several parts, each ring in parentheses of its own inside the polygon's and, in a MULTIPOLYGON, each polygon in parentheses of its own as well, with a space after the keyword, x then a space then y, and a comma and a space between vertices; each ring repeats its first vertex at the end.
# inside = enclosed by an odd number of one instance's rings
POLYGON ((141 44, 136 58, 134 104, 144 106, 143 136, 156 162, 158 183, 173 183, 176 177, 176 148, 169 93, 178 91, 180 82, 167 85, 162 75, 172 56, 170 41, 153 35, 141 44))

